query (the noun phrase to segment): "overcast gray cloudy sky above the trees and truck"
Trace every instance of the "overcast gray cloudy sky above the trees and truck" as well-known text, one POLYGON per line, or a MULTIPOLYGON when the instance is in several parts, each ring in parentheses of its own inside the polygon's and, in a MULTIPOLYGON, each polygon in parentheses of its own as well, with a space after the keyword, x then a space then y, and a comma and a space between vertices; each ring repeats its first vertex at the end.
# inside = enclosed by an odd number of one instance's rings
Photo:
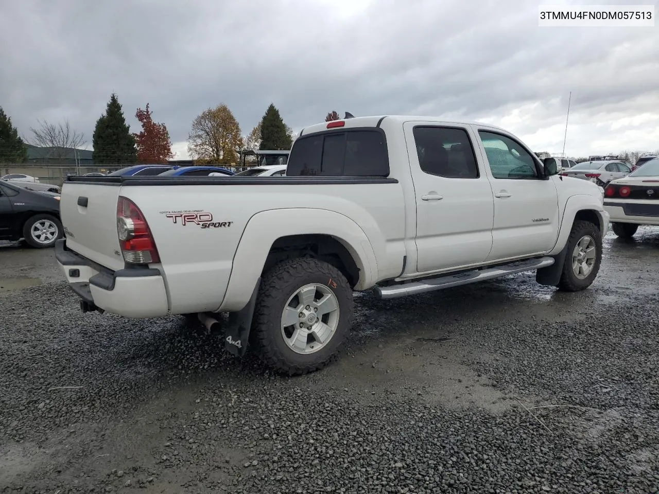
POLYGON ((540 28, 540 3, 565 2, 7 0, 0 106, 28 138, 69 119, 90 147, 116 92, 135 132, 150 103, 179 158, 204 109, 226 103, 247 134, 271 102, 296 130, 333 109, 443 115, 560 152, 572 92, 569 155, 659 149, 659 23, 540 28))

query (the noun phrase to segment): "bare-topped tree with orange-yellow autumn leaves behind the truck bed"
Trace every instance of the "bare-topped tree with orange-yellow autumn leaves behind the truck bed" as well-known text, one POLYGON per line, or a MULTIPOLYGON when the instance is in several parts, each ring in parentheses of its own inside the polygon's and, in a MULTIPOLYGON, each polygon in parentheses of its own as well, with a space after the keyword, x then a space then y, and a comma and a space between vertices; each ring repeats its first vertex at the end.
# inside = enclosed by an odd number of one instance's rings
POLYGON ((227 105, 208 108, 192 121, 188 154, 196 161, 223 165, 237 163, 241 148, 241 126, 227 105))

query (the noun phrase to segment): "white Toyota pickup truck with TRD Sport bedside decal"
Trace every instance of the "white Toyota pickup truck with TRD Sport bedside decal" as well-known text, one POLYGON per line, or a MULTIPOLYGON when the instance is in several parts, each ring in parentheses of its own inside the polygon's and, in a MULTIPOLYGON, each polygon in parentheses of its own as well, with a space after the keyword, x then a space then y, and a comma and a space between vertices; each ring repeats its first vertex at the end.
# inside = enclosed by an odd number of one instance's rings
MULTIPOLYGON (((553 163, 553 165, 552 165, 553 163)), ((595 279, 600 188, 560 177, 509 132, 428 117, 304 128, 286 177, 71 177, 56 256, 84 312, 229 313, 225 347, 283 373, 328 364, 353 290, 380 298, 536 270, 595 279)))

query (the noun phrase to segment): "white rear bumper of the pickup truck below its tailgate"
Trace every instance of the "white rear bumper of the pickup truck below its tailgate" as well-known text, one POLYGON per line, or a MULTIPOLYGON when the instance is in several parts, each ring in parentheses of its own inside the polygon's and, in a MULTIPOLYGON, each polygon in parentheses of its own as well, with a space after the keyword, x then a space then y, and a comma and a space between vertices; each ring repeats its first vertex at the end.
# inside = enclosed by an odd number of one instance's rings
POLYGON ((167 316, 165 280, 159 269, 134 267, 111 271, 55 243, 55 258, 85 312, 101 309, 137 319, 167 316))

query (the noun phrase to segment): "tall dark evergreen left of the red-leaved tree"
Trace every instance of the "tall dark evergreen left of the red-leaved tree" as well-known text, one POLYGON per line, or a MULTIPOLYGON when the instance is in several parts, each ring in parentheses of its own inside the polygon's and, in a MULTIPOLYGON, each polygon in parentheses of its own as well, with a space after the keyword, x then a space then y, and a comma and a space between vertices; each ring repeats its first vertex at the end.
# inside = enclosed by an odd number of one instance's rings
POLYGON ((105 115, 96 121, 92 145, 94 164, 137 163, 135 138, 130 134, 130 126, 126 123, 121 104, 114 93, 107 103, 105 115))

